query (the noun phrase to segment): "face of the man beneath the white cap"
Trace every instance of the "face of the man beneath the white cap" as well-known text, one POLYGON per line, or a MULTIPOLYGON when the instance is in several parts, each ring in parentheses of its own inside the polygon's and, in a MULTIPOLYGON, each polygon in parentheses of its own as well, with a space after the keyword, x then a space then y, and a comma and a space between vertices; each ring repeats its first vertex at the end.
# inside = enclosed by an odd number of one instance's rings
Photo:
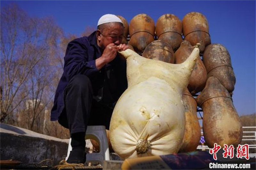
POLYGON ((124 27, 119 23, 107 23, 102 31, 97 30, 97 44, 105 49, 110 43, 119 45, 124 35, 124 27))

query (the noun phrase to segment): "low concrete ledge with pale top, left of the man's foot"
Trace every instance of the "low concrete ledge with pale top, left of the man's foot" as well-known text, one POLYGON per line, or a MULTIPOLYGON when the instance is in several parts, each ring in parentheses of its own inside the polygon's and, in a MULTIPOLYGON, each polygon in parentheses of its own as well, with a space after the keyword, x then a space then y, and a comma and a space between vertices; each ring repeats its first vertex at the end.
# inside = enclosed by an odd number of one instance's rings
POLYGON ((18 160, 23 164, 38 164, 51 159, 58 165, 66 157, 68 139, 42 135, 28 129, 0 124, 1 160, 18 160))

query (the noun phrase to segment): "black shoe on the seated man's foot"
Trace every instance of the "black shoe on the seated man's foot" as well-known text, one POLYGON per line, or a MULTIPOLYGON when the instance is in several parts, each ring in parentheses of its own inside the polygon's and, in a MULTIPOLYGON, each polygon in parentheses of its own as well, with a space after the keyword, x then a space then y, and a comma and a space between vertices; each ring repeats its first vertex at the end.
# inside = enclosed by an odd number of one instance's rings
POLYGON ((86 153, 81 150, 70 151, 67 163, 69 164, 84 164, 86 161, 86 153))

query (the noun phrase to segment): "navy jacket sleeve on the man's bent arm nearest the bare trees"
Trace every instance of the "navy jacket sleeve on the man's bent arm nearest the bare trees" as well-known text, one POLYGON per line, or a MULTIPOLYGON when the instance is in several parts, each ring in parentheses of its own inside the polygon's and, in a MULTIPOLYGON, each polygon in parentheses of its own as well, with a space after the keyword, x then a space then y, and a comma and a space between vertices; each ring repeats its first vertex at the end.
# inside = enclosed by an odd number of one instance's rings
POLYGON ((64 57, 64 73, 67 81, 77 74, 84 74, 90 78, 99 72, 93 56, 88 56, 88 48, 90 48, 89 43, 86 44, 81 38, 68 43, 64 57))

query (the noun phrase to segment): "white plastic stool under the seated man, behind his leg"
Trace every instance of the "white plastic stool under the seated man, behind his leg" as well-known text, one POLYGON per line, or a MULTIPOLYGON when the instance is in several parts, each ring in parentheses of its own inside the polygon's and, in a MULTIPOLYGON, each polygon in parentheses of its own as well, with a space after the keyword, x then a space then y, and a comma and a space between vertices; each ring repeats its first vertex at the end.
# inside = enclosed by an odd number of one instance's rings
MULTIPOLYGON (((108 138, 107 138, 105 126, 87 126, 85 139, 94 139, 100 145, 99 153, 86 154, 86 162, 100 162, 101 165, 103 165, 103 160, 110 160, 108 138)), ((70 151, 72 151, 71 138, 69 139, 69 143, 68 143, 68 153, 67 153, 66 160, 69 157, 70 151)))

